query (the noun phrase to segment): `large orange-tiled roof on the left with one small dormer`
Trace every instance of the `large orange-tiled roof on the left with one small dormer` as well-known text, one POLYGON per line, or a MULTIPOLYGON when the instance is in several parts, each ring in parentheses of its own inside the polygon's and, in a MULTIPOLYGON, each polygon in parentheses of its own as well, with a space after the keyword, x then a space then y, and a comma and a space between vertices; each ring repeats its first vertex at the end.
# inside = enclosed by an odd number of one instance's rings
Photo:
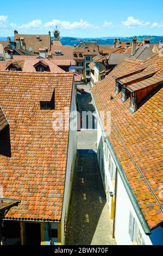
POLYGON ((11 157, 0 155, 5 198, 20 199, 7 218, 60 221, 68 129, 56 131, 58 111, 69 121, 73 73, 0 72, 1 106, 10 120, 11 157), (43 90, 55 89, 55 110, 40 110, 43 90), (55 113, 57 115, 55 115, 55 113))

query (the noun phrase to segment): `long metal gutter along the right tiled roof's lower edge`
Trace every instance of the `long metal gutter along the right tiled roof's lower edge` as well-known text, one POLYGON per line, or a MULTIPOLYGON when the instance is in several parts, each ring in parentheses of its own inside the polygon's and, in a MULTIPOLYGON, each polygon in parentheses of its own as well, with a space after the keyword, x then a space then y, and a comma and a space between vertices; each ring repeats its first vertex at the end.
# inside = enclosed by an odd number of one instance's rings
POLYGON ((114 161, 115 161, 115 164, 116 164, 118 173, 119 173, 120 176, 121 176, 123 185, 124 185, 124 187, 126 188, 126 191, 127 191, 127 194, 128 194, 128 196, 129 196, 129 198, 130 198, 131 204, 133 205, 133 208, 134 208, 134 210, 135 210, 135 212, 136 212, 137 217, 139 218, 139 221, 140 221, 140 223, 141 223, 141 225, 142 225, 143 230, 145 231, 145 234, 146 234, 146 235, 151 235, 151 234, 152 234, 151 229, 149 228, 149 226, 148 226, 148 224, 147 224, 147 221, 145 220, 145 217, 144 217, 143 214, 142 214, 142 211, 141 211, 141 209, 140 209, 140 206, 139 206, 139 204, 137 203, 137 200, 136 200, 136 198, 135 198, 135 194, 134 194, 133 190, 131 190, 130 184, 129 184, 127 178, 126 178, 126 175, 124 174, 124 171, 123 171, 123 169, 122 169, 122 167, 121 167, 120 161, 118 160, 118 158, 117 158, 117 156, 116 156, 116 154, 115 154, 115 151, 114 151, 114 149, 112 148, 112 145, 111 145, 111 143, 110 143, 110 141, 109 141, 109 137, 108 137, 108 135, 106 134, 106 132, 105 132, 105 130, 104 130, 104 127, 103 127, 103 124, 102 124, 102 121, 101 121, 101 119, 100 119, 100 116, 99 116, 99 113, 98 113, 98 109, 97 109, 97 106, 96 106, 96 101, 95 101, 95 98, 94 98, 94 96, 93 96, 91 90, 90 90, 90 93, 91 93, 91 96, 92 96, 93 105, 94 105, 95 110, 96 110, 96 113, 97 113, 97 117, 98 117, 98 120, 99 120, 99 124, 100 124, 101 129, 102 129, 102 131, 103 131, 103 133, 104 133, 104 137, 105 137, 106 144, 108 145, 108 148, 109 148, 109 150, 110 150, 110 153, 111 153, 111 155, 112 155, 112 158, 113 158, 114 161))

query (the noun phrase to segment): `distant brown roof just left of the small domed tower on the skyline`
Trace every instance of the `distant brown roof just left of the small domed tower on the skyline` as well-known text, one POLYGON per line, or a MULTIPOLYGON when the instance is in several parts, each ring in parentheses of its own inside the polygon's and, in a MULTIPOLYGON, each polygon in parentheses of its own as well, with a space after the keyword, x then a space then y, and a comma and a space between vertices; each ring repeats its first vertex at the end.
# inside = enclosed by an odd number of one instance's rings
POLYGON ((48 50, 51 49, 51 38, 49 35, 28 35, 28 34, 16 34, 14 37, 14 42, 16 39, 24 38, 24 42, 26 44, 26 50, 30 51, 32 48, 32 52, 39 52, 39 48, 46 47, 48 50), (37 41, 37 36, 40 37, 40 41, 37 41))

